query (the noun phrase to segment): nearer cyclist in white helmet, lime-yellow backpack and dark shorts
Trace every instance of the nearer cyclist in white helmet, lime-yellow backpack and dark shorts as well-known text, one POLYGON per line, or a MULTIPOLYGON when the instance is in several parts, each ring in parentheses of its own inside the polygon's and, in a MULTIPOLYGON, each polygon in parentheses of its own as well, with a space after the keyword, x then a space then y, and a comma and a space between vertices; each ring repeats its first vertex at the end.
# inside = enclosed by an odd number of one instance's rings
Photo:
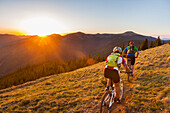
POLYGON ((128 72, 130 69, 128 68, 125 59, 121 56, 122 49, 120 47, 115 47, 113 52, 106 59, 106 66, 104 69, 104 76, 109 78, 107 81, 107 87, 105 91, 109 90, 109 86, 111 86, 111 81, 114 82, 116 88, 116 103, 120 103, 119 93, 120 93, 120 76, 119 76, 119 68, 121 64, 126 68, 128 72))

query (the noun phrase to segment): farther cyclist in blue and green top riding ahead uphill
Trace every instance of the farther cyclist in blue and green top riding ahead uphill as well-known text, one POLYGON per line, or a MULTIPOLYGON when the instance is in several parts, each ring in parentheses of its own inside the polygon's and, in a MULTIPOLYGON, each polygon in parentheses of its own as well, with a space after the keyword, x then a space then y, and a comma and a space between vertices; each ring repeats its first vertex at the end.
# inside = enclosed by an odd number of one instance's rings
MULTIPOLYGON (((122 55, 124 56, 125 52, 127 52, 127 59, 130 58, 131 59, 131 71, 133 73, 134 71, 134 64, 135 64, 135 58, 138 57, 139 55, 139 51, 138 49, 136 48, 136 46, 134 46, 134 42, 129 42, 129 46, 126 47, 122 53, 122 55), (135 53, 136 56, 135 56, 135 53)), ((127 60, 128 61, 128 60, 127 60)))

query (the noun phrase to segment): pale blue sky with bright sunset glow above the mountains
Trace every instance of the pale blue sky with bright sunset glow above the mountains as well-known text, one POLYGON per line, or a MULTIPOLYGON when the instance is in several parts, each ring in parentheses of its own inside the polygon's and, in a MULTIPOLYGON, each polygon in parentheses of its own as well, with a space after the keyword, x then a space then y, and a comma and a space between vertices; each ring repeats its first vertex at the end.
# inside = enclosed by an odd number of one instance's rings
POLYGON ((0 0, 0 33, 123 33, 170 39, 170 0, 0 0))

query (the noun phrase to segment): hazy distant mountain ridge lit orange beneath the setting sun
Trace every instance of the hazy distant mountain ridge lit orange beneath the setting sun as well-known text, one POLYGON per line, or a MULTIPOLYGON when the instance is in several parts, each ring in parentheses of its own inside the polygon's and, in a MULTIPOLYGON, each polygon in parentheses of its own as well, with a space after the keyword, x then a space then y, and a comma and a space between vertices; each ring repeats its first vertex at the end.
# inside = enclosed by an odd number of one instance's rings
POLYGON ((85 34, 70 33, 65 36, 51 34, 45 38, 38 36, 0 35, 0 76, 17 69, 50 60, 68 60, 71 58, 108 55, 114 46, 134 41, 138 46, 147 38, 149 42, 156 40, 128 31, 121 34, 85 34), (5 37, 5 38, 4 38, 5 37), (6 39, 6 40, 5 40, 6 39))

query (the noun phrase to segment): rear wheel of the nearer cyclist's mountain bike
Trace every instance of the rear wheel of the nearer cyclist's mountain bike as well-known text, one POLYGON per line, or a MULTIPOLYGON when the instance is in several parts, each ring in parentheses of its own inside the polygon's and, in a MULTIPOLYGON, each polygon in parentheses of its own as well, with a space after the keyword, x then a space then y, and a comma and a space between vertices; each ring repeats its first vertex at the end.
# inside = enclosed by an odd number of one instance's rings
POLYGON ((109 103, 111 101, 111 92, 107 91, 101 101, 100 105, 100 113, 107 113, 109 112, 109 103))

